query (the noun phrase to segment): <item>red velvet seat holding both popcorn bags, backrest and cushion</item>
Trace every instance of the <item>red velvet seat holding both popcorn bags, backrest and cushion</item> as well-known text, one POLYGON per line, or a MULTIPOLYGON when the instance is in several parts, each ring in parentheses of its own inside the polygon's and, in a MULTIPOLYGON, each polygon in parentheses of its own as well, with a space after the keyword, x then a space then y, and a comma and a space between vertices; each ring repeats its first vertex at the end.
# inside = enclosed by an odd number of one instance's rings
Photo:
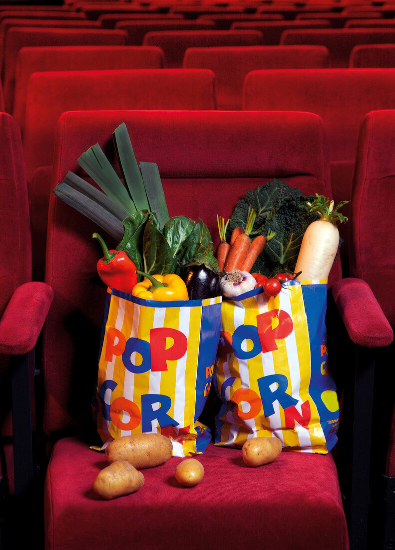
MULTIPOLYGON (((215 246, 216 213, 229 217, 244 191, 268 179, 331 195, 322 121, 290 112, 64 113, 53 186, 68 171, 83 175, 76 160, 96 142, 113 158, 111 135, 121 122, 137 160, 158 164, 170 216, 202 217, 215 246)), ((51 195, 46 281, 55 298, 43 344, 44 430, 55 441, 45 485, 48 550, 93 549, 103 541, 112 548, 179 547, 189 529, 188 546, 196 550, 347 549, 331 454, 283 452, 272 464, 247 469, 240 449, 209 444, 199 456, 204 482, 192 490, 173 481, 180 459, 171 458, 144 470, 141 491, 106 502, 95 496, 92 483, 105 460, 89 448, 94 441, 90 405, 106 289, 96 276, 94 230, 95 224, 51 195)), ((338 277, 336 262, 332 280, 338 277)))

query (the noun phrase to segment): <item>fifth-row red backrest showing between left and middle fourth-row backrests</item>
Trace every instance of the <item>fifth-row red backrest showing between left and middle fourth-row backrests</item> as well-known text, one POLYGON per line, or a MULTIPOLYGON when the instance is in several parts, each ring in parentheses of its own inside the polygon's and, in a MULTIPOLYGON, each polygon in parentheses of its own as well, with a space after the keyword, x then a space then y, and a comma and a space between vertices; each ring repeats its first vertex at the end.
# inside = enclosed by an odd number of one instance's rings
POLYGON ((118 21, 115 29, 122 29, 129 36, 130 45, 142 45, 144 35, 154 31, 185 31, 185 30, 209 30, 215 29, 214 21, 187 20, 187 19, 140 19, 138 21, 118 21))

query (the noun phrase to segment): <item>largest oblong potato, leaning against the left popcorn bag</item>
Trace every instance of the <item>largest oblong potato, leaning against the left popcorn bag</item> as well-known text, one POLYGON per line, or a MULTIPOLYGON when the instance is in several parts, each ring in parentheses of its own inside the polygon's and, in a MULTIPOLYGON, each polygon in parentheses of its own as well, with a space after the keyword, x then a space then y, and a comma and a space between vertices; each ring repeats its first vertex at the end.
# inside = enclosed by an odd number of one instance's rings
POLYGON ((160 433, 141 433, 113 439, 105 449, 109 464, 115 460, 128 460, 141 470, 167 462, 173 453, 173 444, 160 433))

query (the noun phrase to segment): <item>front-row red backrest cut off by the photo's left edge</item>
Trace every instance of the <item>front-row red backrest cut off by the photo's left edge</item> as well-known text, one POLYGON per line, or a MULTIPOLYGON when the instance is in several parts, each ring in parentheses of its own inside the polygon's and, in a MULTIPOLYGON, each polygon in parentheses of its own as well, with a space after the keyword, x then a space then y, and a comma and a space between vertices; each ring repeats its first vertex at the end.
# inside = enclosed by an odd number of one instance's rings
POLYGON ((29 205, 20 130, 7 113, 0 113, 0 218, 3 234, 0 266, 0 316, 14 290, 31 280, 29 205))

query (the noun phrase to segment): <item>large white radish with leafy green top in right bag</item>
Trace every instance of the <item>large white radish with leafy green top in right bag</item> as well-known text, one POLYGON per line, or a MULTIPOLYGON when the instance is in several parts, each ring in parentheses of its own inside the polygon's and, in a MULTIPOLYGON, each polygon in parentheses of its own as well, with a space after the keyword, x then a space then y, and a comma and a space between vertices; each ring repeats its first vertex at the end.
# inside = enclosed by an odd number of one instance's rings
POLYGON ((311 211, 319 213, 320 219, 310 223, 305 230, 295 266, 295 273, 302 272, 297 277, 302 281, 327 279, 339 246, 336 222, 347 222, 347 218, 337 210, 348 201, 342 201, 333 208, 333 200, 318 194, 315 197, 309 206, 311 211))

